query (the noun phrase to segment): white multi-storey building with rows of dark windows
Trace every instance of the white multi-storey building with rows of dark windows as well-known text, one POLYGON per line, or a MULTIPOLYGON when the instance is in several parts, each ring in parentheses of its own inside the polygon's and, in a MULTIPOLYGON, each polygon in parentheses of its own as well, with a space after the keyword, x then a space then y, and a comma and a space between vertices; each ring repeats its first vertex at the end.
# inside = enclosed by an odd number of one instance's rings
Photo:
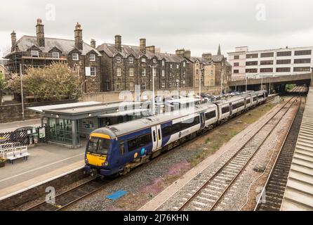
POLYGON ((245 79, 262 75, 299 75, 313 67, 313 47, 296 47, 248 51, 237 47, 228 53, 232 64, 232 79, 245 79))

